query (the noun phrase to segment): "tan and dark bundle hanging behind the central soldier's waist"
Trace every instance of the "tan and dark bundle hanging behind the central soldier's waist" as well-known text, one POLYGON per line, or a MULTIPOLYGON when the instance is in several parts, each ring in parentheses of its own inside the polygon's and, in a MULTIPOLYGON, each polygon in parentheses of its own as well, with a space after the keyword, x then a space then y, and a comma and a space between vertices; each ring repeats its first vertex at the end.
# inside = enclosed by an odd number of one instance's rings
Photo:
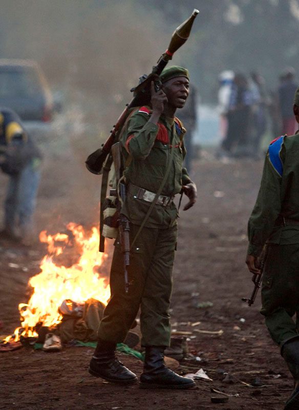
POLYGON ((115 239, 118 236, 119 212, 116 196, 108 196, 103 203, 103 231, 105 238, 115 239))

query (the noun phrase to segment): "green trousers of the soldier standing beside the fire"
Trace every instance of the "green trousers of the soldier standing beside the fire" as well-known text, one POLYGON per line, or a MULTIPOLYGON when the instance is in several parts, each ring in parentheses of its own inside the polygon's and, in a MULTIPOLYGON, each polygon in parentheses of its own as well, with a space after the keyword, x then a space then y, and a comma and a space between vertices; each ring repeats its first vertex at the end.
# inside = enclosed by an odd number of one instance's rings
MULTIPOLYGON (((132 243, 139 226, 130 224, 132 243)), ((100 322, 98 337, 120 343, 140 309, 142 346, 169 346, 169 304, 177 242, 177 225, 166 229, 143 228, 130 253, 129 292, 125 293, 124 259, 115 242, 110 272, 111 298, 100 322)))

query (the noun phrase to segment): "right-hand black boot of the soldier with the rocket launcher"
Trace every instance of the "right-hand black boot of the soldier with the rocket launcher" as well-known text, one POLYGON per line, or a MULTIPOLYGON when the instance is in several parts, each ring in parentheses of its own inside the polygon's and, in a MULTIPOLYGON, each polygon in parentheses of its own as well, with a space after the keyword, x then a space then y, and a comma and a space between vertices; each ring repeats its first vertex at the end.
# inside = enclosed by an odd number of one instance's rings
POLYGON ((165 366, 164 347, 148 346, 145 348, 143 373, 140 376, 141 388, 190 388, 195 382, 189 377, 182 377, 165 366))

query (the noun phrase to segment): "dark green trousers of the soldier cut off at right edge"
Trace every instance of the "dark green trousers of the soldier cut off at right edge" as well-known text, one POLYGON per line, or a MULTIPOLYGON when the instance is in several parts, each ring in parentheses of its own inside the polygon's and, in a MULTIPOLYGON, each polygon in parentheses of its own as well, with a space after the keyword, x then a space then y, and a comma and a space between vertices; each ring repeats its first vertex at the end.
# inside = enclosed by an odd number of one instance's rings
POLYGON ((261 313, 271 338, 282 346, 299 332, 299 243, 267 247, 261 313))

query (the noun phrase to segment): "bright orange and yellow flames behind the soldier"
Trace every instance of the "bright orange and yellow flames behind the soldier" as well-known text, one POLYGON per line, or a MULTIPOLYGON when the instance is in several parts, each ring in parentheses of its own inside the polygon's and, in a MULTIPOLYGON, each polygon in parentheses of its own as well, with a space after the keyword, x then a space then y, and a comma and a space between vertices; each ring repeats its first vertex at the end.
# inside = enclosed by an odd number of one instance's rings
POLYGON ((88 236, 82 226, 73 222, 67 228, 72 234, 47 235, 46 231, 42 231, 39 235, 41 242, 48 243, 48 255, 40 263, 41 272, 29 280, 29 285, 34 288, 29 302, 18 305, 22 326, 15 330, 14 341, 19 340, 21 331, 25 337, 37 336, 37 323, 49 327, 58 324, 62 318, 58 308, 63 300, 84 302, 94 298, 106 304, 110 297, 108 282, 97 273, 108 256, 98 252, 98 230, 92 228, 92 234, 88 236), (67 268, 53 261, 59 259, 59 255, 62 258, 70 247, 80 253, 76 263, 67 268))

